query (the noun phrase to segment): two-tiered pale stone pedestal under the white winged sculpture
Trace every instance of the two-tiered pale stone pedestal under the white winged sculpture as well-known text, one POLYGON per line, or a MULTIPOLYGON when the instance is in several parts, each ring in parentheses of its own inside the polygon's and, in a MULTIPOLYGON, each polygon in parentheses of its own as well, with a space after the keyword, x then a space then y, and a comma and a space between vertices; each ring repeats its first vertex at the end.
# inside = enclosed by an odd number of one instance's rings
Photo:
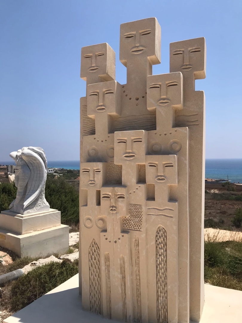
POLYGON ((0 246, 19 257, 65 253, 69 247, 69 226, 61 224, 61 213, 45 212, 0 214, 0 246))

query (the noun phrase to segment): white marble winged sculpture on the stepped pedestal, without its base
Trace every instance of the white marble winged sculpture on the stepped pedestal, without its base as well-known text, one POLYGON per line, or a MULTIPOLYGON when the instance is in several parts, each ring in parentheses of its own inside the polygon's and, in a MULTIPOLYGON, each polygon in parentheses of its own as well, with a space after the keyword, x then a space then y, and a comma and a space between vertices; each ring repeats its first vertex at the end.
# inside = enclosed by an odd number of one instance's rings
POLYGON ((40 147, 23 147, 11 152, 10 157, 16 162, 15 186, 18 188, 16 199, 9 205, 10 211, 18 214, 48 211, 45 151, 40 147))

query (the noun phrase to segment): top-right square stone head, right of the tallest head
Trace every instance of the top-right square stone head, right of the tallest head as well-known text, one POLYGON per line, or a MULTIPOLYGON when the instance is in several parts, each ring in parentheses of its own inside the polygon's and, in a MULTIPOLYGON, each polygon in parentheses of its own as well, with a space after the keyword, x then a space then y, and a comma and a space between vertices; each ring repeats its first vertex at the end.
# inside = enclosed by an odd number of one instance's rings
POLYGON ((183 77, 194 73, 195 79, 206 77, 205 38, 170 43, 170 72, 182 72, 183 77))

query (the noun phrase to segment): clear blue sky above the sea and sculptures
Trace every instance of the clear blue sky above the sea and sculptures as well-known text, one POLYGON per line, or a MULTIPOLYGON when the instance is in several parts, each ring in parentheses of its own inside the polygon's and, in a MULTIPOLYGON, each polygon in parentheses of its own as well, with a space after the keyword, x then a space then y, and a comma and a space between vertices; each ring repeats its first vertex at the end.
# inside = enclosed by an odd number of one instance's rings
POLYGON ((107 42, 116 52, 121 23, 156 17, 161 64, 169 72, 169 43, 205 37, 206 158, 242 158, 242 2, 240 0, 1 0, 0 161, 23 146, 42 147, 48 160, 79 159, 81 47, 107 42))

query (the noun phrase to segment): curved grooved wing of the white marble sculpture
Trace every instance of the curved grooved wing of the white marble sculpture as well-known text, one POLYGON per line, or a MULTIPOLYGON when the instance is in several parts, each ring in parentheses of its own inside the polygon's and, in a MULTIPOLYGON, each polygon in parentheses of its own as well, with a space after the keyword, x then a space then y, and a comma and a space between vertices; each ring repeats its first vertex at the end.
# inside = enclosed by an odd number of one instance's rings
POLYGON ((24 208, 26 208, 35 201, 44 187, 47 160, 44 150, 39 147, 28 147, 22 151, 21 156, 31 172, 24 200, 24 208))

